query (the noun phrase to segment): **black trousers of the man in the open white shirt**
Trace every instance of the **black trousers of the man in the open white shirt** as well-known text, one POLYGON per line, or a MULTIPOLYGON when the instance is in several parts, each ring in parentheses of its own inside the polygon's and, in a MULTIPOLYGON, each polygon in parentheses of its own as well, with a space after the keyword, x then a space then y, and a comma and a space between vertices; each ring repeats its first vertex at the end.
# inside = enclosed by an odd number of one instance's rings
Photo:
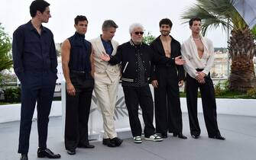
POLYGON ((217 124, 215 91, 210 74, 206 76, 205 81, 205 84, 200 84, 195 78, 186 74, 186 103, 190 118, 190 134, 199 135, 201 133, 197 118, 197 94, 199 88, 208 136, 217 136, 220 133, 217 124))

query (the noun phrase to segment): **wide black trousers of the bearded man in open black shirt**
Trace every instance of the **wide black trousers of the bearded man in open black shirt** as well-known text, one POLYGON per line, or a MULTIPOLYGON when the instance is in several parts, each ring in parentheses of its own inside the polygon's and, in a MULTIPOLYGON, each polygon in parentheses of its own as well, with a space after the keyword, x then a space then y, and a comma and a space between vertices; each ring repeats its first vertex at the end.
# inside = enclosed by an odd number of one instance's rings
POLYGON ((156 132, 182 133, 180 91, 176 69, 157 70, 158 88, 154 88, 156 132))

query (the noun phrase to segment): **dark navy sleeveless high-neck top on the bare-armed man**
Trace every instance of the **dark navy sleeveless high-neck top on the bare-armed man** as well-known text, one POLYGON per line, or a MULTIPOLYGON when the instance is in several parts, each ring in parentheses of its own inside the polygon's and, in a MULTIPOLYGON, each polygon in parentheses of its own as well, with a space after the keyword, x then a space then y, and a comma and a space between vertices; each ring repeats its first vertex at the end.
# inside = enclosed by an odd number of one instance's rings
POLYGON ((92 44, 85 39, 84 34, 75 33, 68 38, 70 41, 70 71, 91 72, 89 57, 92 53, 92 44))

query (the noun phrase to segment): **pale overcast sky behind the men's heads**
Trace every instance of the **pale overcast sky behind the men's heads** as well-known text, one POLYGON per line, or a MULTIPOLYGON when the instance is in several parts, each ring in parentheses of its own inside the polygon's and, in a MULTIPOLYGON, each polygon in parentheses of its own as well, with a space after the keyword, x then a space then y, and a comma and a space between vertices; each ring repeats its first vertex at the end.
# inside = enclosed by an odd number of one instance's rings
MULTIPOLYGON (((28 22, 31 17, 29 5, 32 0, 2 0, 0 10, 0 22, 5 30, 12 36, 13 31, 21 24, 28 22)), ((89 27, 86 39, 98 37, 101 34, 102 22, 112 19, 118 24, 115 40, 125 43, 130 39, 128 27, 134 22, 144 25, 144 29, 150 31, 155 37, 159 33, 158 22, 161 18, 170 18, 173 21, 171 35, 182 43, 190 36, 188 24, 181 24, 180 14, 185 8, 190 7, 195 0, 48 0, 52 18, 48 24, 53 31, 56 43, 61 43, 67 37, 73 35, 73 18, 77 14, 86 15, 89 20, 89 27)), ((215 47, 227 46, 227 34, 220 28, 210 30, 206 37, 209 37, 215 47)))

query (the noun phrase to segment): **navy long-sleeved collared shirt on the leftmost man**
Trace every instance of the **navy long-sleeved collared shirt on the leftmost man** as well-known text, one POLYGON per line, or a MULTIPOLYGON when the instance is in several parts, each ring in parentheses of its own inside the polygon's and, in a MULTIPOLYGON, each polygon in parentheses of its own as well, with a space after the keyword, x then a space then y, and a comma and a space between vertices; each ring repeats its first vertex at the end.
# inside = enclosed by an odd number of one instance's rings
POLYGON ((12 56, 15 73, 18 78, 26 70, 51 70, 57 73, 57 54, 52 32, 43 25, 41 34, 31 21, 15 30, 12 41, 12 56))

